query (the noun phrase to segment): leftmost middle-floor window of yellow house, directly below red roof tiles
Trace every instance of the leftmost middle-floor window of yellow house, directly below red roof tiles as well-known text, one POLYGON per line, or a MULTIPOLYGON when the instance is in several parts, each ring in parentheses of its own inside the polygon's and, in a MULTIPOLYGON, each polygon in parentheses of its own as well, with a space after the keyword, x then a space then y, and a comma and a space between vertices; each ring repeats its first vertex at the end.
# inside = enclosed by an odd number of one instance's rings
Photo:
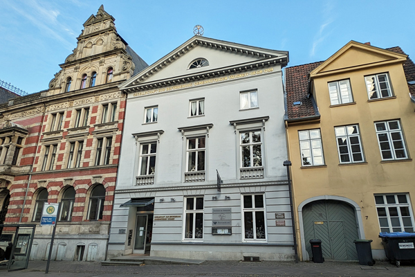
POLYGON ((298 131, 302 166, 324 165, 322 137, 320 129, 298 131))

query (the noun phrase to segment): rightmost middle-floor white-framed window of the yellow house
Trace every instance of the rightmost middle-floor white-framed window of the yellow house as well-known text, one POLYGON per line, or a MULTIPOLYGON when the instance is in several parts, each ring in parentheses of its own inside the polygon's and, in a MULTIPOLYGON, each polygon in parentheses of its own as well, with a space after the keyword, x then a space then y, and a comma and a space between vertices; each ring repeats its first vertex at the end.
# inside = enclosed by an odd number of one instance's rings
POLYGON ((382 160, 408 158, 400 120, 376 122, 375 128, 382 160))

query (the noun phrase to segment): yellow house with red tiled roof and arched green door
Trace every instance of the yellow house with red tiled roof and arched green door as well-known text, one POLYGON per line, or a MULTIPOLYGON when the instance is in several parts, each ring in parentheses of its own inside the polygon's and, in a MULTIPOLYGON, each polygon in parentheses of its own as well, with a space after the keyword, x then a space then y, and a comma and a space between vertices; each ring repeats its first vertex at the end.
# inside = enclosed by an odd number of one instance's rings
POLYGON ((415 65, 399 48, 349 42, 286 69, 286 134, 299 257, 357 260, 353 240, 414 232, 415 65))

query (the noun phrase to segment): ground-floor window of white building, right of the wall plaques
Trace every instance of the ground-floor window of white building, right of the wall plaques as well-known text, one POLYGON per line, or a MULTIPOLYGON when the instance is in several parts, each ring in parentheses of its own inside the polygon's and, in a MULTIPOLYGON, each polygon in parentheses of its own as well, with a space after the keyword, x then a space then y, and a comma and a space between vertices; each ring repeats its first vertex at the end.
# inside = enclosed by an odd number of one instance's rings
POLYGON ((243 195, 245 240, 266 240, 264 195, 243 195))

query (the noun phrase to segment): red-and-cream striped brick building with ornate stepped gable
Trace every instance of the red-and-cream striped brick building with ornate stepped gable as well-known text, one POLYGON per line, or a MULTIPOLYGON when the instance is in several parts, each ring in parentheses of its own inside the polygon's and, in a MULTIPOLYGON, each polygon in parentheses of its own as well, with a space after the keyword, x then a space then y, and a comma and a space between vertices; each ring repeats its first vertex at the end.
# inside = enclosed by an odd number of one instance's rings
MULTIPOLYGON (((55 260, 105 258, 126 99, 118 85, 147 66, 114 21, 101 6, 47 90, 0 105, 0 224, 39 224, 44 203, 60 202, 55 260)), ((31 258, 47 258, 51 232, 37 226, 31 258)))

